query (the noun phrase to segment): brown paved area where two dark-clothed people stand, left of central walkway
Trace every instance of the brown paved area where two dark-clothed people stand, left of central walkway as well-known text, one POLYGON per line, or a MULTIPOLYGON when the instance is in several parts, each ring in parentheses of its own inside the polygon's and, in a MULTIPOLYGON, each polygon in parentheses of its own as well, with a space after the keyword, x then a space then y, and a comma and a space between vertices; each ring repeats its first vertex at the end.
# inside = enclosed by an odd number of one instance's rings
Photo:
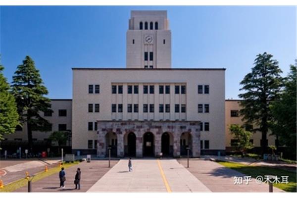
MULTIPOLYGON (((111 160, 110 166, 113 167, 118 161, 111 160)), ((44 179, 32 183, 33 192, 86 192, 90 189, 110 168, 108 168, 107 160, 92 160, 90 163, 86 161, 78 165, 71 166, 65 169, 66 181, 65 189, 60 189, 60 181, 58 173, 50 175, 44 179), (75 190, 74 176, 77 168, 81 169, 81 190, 75 190)), ((14 192, 27 192, 28 187, 24 186, 14 192)))

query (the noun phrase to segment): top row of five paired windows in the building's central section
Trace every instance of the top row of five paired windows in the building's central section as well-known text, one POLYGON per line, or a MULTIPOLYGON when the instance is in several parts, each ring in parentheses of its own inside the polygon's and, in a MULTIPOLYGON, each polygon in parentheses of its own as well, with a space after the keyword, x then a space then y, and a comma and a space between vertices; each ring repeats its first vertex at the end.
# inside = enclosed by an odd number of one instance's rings
MULTIPOLYGON (((175 85, 174 86, 175 94, 186 94, 186 85, 175 85)), ((112 85, 111 86, 112 94, 123 94, 122 85, 112 85)), ((138 85, 128 85, 127 86, 128 94, 139 94, 138 85)), ((144 85, 144 94, 154 94, 154 85, 144 85)), ((170 94, 170 85, 159 85, 159 94, 170 94), (165 88, 165 89, 164 89, 165 88)))

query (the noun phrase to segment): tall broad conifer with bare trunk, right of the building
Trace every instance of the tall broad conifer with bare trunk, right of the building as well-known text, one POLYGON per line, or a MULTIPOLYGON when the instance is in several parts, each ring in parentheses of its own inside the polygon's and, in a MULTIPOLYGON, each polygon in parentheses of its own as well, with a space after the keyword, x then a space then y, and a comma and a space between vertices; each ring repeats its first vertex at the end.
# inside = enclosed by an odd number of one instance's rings
POLYGON ((255 124, 258 128, 253 131, 262 133, 262 154, 267 151, 267 132, 269 122, 272 120, 272 112, 269 104, 279 98, 282 88, 282 70, 278 61, 272 59, 272 55, 264 52, 258 54, 254 61, 254 67, 241 81, 243 86, 239 94, 241 101, 240 114, 246 124, 255 124))

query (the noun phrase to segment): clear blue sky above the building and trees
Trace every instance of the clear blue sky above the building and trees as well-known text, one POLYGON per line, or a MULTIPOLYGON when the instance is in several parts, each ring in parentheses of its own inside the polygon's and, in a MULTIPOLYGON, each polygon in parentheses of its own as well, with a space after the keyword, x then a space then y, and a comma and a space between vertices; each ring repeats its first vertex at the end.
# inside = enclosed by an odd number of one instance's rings
MULTIPOLYGON (((1 6, 0 53, 11 82, 30 55, 49 98, 72 98, 72 67, 125 67, 130 10, 167 10, 172 67, 226 68, 226 99, 256 54, 274 55, 286 75, 296 58, 296 7, 1 6)), ((215 80, 215 79, 214 79, 215 80)))

